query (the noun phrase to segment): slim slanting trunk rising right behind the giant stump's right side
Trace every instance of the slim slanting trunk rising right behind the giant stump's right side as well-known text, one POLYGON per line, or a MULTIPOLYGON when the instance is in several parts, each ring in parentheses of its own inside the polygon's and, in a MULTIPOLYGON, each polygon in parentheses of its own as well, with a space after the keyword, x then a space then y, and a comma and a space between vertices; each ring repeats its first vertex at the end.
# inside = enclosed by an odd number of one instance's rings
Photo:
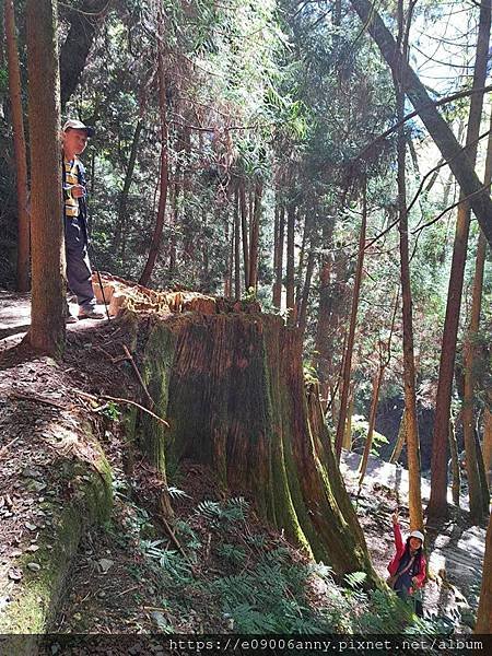
POLYGON ((359 255, 358 255, 358 263, 355 268, 355 279, 353 283, 353 294, 352 294, 352 309, 350 313, 350 324, 349 324, 349 336, 347 338, 347 349, 343 355, 343 372, 341 379, 341 395, 340 395, 340 412, 338 414, 338 424, 337 424, 337 437, 336 437, 336 455, 337 458, 340 459, 341 447, 343 443, 343 433, 345 430, 345 419, 347 419, 347 400, 349 398, 349 387, 350 387, 350 374, 352 370, 352 352, 353 344, 355 339, 355 327, 358 323, 358 309, 359 309, 359 295, 361 291, 362 284, 362 273, 364 267, 364 248, 365 248, 365 232, 367 227, 367 189, 366 181, 363 183, 362 190, 362 223, 361 223, 361 232, 359 235, 359 255))

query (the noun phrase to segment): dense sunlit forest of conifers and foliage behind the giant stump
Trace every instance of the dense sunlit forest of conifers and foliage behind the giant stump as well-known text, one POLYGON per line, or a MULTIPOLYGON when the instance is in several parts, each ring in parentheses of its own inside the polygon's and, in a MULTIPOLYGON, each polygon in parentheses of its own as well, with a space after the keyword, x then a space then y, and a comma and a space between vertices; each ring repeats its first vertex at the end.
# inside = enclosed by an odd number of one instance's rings
MULTIPOLYGON (((13 4, 25 108, 24 2, 13 4)), ((437 102, 472 87, 485 5, 490 14, 490 2, 384 0, 377 11, 437 102)), ((359 450, 372 440, 388 458, 398 434, 405 436, 409 402, 398 232, 403 202, 414 393, 422 469, 429 470, 460 190, 418 117, 379 138, 412 107, 352 3, 78 0, 58 7, 62 116, 96 128, 83 155, 93 265, 153 288, 258 300, 281 314, 304 335, 305 373, 320 384, 337 445, 342 434, 343 446, 353 441, 359 450)), ((1 43, 0 285, 15 288, 22 208, 4 22, 1 43)), ((440 110, 464 145, 470 95, 440 110)), ((490 113, 485 94, 481 177, 490 113)), ((43 162, 28 163, 34 166, 43 162)), ((459 452, 479 232, 471 221, 458 298, 449 400, 459 452)), ((485 469, 490 249, 487 258, 472 336, 472 427, 485 469)))

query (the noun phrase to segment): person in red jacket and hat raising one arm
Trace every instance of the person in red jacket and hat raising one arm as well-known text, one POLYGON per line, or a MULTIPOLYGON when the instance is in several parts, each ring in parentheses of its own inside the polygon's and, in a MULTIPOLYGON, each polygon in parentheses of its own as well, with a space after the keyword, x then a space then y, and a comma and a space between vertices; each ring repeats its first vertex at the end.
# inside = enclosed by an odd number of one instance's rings
MULTIPOLYGON (((388 585, 393 587, 398 597, 406 599, 420 589, 425 582, 425 557, 423 554, 424 537, 420 530, 412 530, 403 544, 398 511, 393 515, 393 530, 395 534, 396 553, 388 565, 390 577, 388 585)), ((414 598, 415 613, 423 617, 422 602, 414 598)))

